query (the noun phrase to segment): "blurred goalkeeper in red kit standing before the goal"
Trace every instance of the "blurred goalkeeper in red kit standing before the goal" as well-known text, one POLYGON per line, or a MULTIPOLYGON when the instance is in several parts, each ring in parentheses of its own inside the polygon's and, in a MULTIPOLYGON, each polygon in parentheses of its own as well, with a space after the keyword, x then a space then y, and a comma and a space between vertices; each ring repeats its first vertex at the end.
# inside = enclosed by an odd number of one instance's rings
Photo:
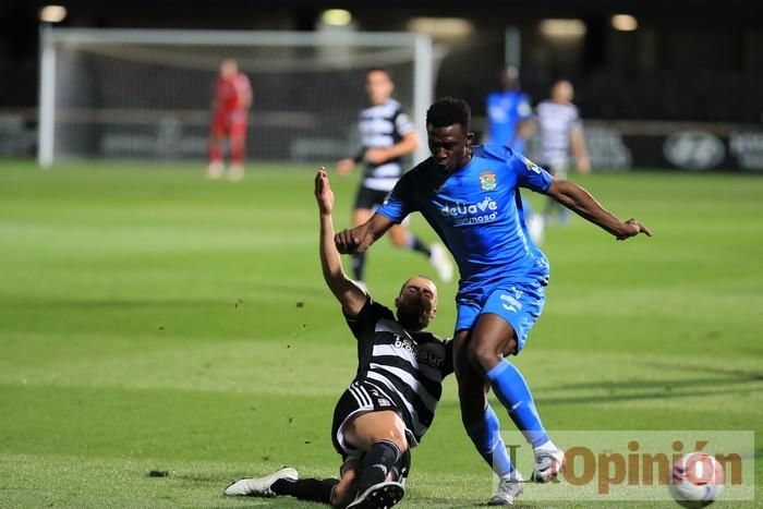
POLYGON ((213 117, 209 129, 209 167, 207 177, 219 179, 225 173, 222 143, 230 141, 231 165, 228 178, 239 181, 244 177, 246 153, 246 126, 252 107, 252 86, 249 77, 239 71, 234 59, 220 63, 220 74, 215 81, 213 117))

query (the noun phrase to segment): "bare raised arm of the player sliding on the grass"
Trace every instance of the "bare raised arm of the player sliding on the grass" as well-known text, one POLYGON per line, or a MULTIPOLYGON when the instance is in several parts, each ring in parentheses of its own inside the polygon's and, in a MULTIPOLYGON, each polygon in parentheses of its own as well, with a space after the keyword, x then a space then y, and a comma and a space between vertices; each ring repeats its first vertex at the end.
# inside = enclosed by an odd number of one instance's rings
POLYGON ((368 298, 344 274, 339 252, 334 244, 334 222, 331 220, 334 192, 325 168, 320 168, 315 175, 315 199, 318 202, 320 217, 320 267, 324 280, 348 316, 356 316, 368 298))

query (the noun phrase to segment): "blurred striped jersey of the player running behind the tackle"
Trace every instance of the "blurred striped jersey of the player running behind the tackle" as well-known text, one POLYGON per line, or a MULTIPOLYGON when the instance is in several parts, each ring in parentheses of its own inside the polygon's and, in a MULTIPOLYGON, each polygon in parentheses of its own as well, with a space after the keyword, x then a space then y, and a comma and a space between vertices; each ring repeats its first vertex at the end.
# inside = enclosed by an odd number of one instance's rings
MULTIPOLYGON (((387 99, 383 105, 361 110, 358 120, 363 150, 367 148, 387 148, 400 143, 402 137, 415 128, 395 99, 387 99)), ((392 191, 402 175, 401 159, 390 159, 380 165, 365 162, 363 185, 375 191, 392 191)))

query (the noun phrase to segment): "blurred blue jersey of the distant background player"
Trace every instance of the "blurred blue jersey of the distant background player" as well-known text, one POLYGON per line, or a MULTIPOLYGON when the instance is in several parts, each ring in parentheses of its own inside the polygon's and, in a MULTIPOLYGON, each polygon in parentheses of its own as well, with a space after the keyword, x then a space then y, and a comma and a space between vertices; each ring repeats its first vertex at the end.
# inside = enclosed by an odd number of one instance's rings
POLYGON ((524 150, 524 141, 517 135, 522 120, 532 117, 526 94, 517 90, 493 92, 487 96, 487 131, 491 143, 524 150))

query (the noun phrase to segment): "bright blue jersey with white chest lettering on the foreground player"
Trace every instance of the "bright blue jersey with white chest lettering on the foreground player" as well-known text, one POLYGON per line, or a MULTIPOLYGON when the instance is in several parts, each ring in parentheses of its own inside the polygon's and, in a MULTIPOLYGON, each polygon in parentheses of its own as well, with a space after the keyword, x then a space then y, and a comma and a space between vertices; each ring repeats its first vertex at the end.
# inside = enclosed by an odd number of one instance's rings
POLYGON ((548 260, 528 234, 519 187, 545 193, 552 175, 500 145, 477 145, 467 166, 445 174, 428 158, 403 174, 377 210, 393 222, 420 211, 456 258, 459 298, 496 283, 548 283, 548 260))

